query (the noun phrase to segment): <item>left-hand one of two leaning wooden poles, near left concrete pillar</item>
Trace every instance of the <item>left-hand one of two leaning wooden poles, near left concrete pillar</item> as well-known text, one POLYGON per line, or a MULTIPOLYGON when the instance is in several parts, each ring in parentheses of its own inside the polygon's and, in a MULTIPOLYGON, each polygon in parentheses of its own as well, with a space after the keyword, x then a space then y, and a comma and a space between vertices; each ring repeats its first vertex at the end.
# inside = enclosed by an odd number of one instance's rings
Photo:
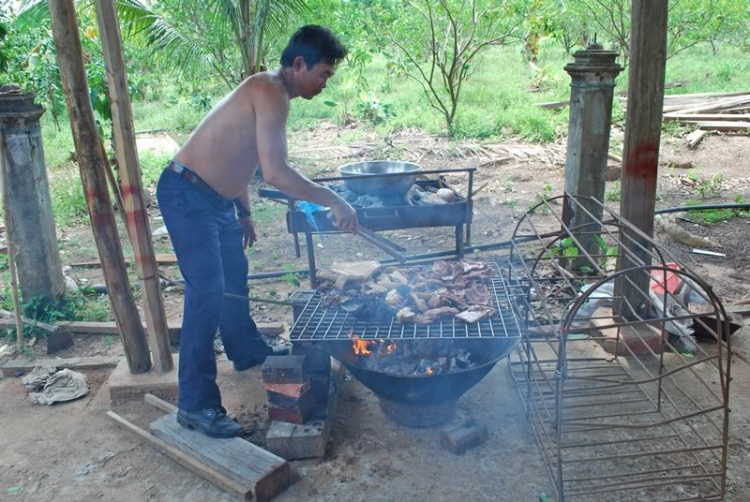
POLYGON ((105 159, 89 98, 74 0, 48 0, 47 3, 81 181, 107 292, 130 372, 145 373, 151 367, 148 342, 130 289, 128 269, 107 190, 105 159))

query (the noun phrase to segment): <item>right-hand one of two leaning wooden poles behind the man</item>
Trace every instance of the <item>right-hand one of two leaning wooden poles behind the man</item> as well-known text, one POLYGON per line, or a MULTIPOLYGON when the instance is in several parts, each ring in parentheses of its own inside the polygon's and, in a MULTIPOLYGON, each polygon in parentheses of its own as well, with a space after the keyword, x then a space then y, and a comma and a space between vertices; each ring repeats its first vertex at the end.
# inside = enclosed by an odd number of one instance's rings
POLYGON ((130 243, 133 246, 135 269, 144 293, 149 345, 154 368, 156 371, 166 372, 173 366, 172 354, 169 351, 169 331, 159 285, 159 269, 151 242, 148 213, 143 203, 141 169, 135 143, 135 127, 133 112, 130 108, 120 23, 117 20, 114 0, 96 0, 95 3, 104 62, 107 67, 109 102, 112 109, 115 150, 120 166, 123 202, 130 243))

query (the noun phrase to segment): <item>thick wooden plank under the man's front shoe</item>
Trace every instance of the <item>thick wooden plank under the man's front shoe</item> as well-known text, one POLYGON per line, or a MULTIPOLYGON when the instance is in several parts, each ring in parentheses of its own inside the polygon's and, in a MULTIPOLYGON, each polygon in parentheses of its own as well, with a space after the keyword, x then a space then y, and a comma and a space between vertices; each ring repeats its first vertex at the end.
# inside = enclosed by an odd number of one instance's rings
POLYGON ((151 422, 150 429, 169 446, 251 491, 258 502, 273 499, 291 484, 286 460, 242 438, 210 438, 179 425, 176 413, 151 422))

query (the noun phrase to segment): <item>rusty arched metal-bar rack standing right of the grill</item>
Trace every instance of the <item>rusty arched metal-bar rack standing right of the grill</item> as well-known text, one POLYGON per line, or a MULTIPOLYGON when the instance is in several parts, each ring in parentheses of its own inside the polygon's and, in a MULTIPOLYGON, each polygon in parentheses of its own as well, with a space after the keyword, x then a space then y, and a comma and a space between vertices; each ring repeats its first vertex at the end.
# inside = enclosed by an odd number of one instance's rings
POLYGON ((730 333, 710 287, 598 201, 568 194, 522 218, 507 274, 524 326, 510 367, 558 502, 722 500, 730 333), (586 222, 572 227, 576 212, 586 222), (542 233, 550 215, 560 230, 542 233), (627 265, 615 272, 616 261, 627 265), (665 287, 669 274, 682 289, 665 287), (654 294, 633 302, 624 291, 644 281, 654 294), (589 302, 607 298, 615 313, 592 316, 589 302), (686 323, 713 342, 693 357, 670 336, 686 323))

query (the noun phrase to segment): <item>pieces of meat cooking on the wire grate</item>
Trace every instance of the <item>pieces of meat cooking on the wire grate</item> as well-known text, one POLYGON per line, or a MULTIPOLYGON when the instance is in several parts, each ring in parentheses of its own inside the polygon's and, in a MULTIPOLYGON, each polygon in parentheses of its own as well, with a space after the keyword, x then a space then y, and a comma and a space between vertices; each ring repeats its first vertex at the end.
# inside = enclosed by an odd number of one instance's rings
POLYGON ((328 270, 320 273, 326 280, 320 291, 324 306, 340 306, 361 319, 432 324, 452 316, 473 324, 497 315, 490 293, 494 273, 489 264, 472 261, 438 261, 432 268, 385 267, 370 272, 366 280, 328 270))

